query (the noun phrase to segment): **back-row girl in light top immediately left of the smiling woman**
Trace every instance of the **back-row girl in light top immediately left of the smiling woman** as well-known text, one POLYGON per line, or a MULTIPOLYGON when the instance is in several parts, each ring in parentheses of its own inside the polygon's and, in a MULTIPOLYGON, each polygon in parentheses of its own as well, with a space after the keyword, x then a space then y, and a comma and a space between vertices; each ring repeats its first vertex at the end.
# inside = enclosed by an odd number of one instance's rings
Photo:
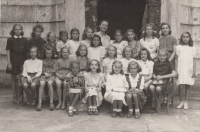
POLYGON ((83 32, 82 41, 80 43, 85 45, 87 48, 89 48, 93 35, 94 35, 94 32, 92 28, 86 27, 83 32))

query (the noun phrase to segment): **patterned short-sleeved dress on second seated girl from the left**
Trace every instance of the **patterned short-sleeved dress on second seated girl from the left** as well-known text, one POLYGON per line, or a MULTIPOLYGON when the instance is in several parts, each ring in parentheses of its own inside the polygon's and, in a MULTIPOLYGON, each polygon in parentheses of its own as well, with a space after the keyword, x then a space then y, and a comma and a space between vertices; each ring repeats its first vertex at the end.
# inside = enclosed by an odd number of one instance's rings
POLYGON ((56 63, 56 60, 54 59, 44 59, 42 60, 43 65, 42 65, 42 75, 40 77, 40 81, 55 81, 55 68, 54 65, 56 63), (44 73, 51 74, 50 77, 46 78, 44 73))

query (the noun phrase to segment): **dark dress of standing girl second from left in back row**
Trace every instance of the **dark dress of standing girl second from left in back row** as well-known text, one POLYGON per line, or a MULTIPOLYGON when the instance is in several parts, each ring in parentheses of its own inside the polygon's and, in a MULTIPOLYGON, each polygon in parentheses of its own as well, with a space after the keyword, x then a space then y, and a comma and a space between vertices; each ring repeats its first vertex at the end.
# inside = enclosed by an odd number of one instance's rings
POLYGON ((31 38, 28 40, 28 49, 30 49, 32 46, 35 46, 38 48, 38 59, 43 59, 43 46, 46 43, 46 41, 43 38, 31 38))

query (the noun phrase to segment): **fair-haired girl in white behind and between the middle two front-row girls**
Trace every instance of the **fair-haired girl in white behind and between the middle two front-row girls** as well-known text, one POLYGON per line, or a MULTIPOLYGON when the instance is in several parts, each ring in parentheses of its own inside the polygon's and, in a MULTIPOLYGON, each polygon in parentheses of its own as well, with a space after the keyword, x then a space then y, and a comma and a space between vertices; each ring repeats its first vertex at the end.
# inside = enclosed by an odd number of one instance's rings
POLYGON ((108 51, 107 51, 106 58, 103 59, 103 63, 102 63, 103 73, 105 74, 105 76, 107 76, 108 74, 112 72, 112 64, 117 58, 117 49, 115 46, 110 45, 107 50, 108 51))

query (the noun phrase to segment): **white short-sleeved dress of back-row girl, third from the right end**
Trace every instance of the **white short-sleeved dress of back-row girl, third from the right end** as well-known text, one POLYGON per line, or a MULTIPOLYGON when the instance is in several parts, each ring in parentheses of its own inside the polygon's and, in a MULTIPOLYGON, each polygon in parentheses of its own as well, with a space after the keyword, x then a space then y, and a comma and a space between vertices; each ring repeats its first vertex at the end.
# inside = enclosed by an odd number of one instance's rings
POLYGON ((157 47, 159 47, 159 40, 157 38, 153 38, 151 41, 146 41, 144 39, 140 39, 141 47, 145 47, 149 50, 151 58, 157 57, 157 47))

